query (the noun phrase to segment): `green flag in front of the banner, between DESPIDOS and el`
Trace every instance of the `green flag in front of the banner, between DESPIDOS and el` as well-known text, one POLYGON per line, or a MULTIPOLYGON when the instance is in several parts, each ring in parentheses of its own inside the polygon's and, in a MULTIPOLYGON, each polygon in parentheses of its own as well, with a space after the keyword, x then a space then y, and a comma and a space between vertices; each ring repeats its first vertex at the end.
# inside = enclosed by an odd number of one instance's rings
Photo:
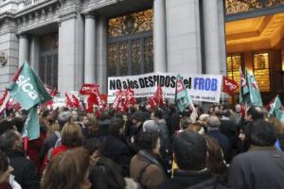
POLYGON ((191 97, 189 97, 187 89, 182 83, 180 74, 176 76, 176 105, 180 112, 183 112, 188 105, 192 105, 191 97))

